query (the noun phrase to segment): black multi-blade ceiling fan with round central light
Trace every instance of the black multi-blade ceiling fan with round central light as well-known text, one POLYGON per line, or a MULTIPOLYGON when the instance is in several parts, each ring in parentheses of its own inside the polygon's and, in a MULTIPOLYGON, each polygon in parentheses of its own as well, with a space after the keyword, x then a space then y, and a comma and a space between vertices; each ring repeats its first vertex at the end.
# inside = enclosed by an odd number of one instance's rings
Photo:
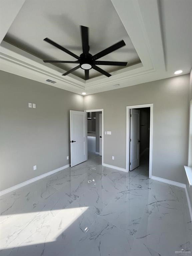
POLYGON ((66 76, 73 71, 82 68, 85 70, 85 80, 89 79, 89 70, 95 69, 96 71, 102 73, 103 75, 110 77, 111 74, 106 72, 105 70, 97 67, 96 65, 110 65, 110 66, 126 66, 127 62, 119 62, 119 61, 97 61, 97 59, 125 46, 125 42, 123 40, 119 41, 118 43, 108 47, 107 49, 95 54, 91 55, 89 53, 89 38, 88 38, 88 27, 80 26, 81 27, 81 39, 82 39, 82 49, 83 53, 80 56, 77 56, 76 54, 72 53, 71 51, 65 49, 63 46, 53 42, 49 38, 45 38, 44 41, 46 41, 49 44, 52 44, 53 46, 57 47, 58 49, 68 53, 72 57, 76 58, 77 61, 64 61, 64 60, 44 60, 44 62, 48 63, 74 63, 79 64, 78 66, 70 69, 66 73, 63 74, 63 76, 66 76))

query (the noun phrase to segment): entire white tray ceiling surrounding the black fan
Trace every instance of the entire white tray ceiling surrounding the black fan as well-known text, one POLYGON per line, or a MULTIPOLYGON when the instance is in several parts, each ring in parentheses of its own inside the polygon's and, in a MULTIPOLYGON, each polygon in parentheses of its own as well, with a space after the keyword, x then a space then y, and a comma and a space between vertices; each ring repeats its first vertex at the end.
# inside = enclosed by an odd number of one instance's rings
MULTIPOLYGON (((191 0, 27 0, 15 12, 16 18, 7 29, 7 42, 0 45, 0 69, 9 73, 42 83, 51 79, 57 82, 53 86, 91 94, 172 77, 179 69, 188 74, 192 67, 191 0), (64 8, 63 3, 66 3, 64 8), (109 54, 105 60, 131 61, 132 65, 110 71, 109 78, 99 75, 85 81, 80 74, 62 76, 60 67, 42 63, 41 58, 71 60, 43 42, 45 37, 76 54, 81 53, 79 25, 90 28, 93 53, 124 39, 126 47, 109 54), (134 64, 139 59, 141 62, 134 64)), ((4 23, 7 24, 6 19, 4 23)), ((4 23, 2 27, 6 27, 4 23)))

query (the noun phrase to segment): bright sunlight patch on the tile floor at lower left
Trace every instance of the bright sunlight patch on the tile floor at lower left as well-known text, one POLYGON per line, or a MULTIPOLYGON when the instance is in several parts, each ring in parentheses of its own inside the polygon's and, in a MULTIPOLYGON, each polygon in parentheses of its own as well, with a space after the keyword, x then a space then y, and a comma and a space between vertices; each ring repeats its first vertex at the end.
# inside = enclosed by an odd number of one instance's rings
MULTIPOLYGON (((25 239, 23 245, 37 245, 56 241, 57 238, 67 230, 89 207, 77 207, 58 209, 53 211, 41 211, 21 213, 11 218, 13 223, 7 226, 2 233, 0 249, 9 249, 18 246, 18 238, 25 239), (55 217, 53 217, 53 214, 55 217), (9 236, 11 246, 6 243, 9 236), (30 236, 29 236, 30 234, 30 236), (4 246, 2 246, 4 244, 4 246)), ((10 219, 10 220, 11 220, 10 219)), ((87 232, 89 227, 84 228, 87 232)), ((19 240, 20 240, 19 239, 19 240)))

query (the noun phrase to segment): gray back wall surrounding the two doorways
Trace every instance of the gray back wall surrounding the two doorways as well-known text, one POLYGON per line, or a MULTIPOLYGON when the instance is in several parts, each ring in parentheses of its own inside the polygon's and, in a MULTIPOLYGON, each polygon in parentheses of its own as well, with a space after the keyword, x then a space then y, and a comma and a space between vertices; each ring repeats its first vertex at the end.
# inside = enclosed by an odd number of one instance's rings
POLYGON ((126 106, 153 103, 152 175, 185 183, 189 75, 84 97, 84 109, 104 109, 104 163, 126 167, 126 106), (115 160, 112 160, 115 156, 115 160))

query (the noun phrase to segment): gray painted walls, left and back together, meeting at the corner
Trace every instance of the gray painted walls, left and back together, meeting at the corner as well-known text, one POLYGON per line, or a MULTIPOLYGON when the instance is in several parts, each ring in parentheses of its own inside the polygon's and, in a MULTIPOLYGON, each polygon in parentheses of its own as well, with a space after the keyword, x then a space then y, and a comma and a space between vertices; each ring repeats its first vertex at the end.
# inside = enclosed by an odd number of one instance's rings
MULTIPOLYGON (((69 163, 69 110, 82 111, 83 96, 3 71, 0 77, 3 190, 69 163)), ((104 163, 126 166, 126 106, 154 103, 152 174, 187 183, 188 96, 189 75, 85 96, 84 109, 104 108, 104 130, 112 131, 104 135, 104 163)))

